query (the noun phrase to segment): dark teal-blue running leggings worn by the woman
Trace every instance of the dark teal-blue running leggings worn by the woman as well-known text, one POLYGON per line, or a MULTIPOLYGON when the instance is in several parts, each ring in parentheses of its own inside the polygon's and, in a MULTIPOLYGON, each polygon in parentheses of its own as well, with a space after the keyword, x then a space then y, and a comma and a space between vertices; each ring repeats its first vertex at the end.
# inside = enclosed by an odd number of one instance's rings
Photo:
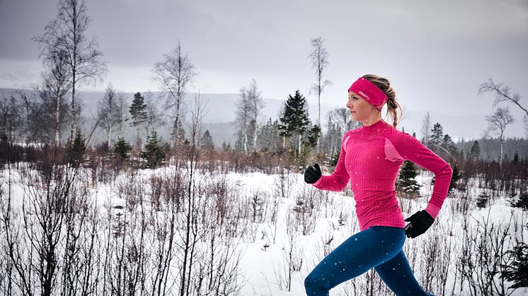
POLYGON ((331 288, 374 268, 396 295, 432 295, 415 279, 403 253, 402 228, 372 226, 357 232, 321 261, 304 280, 309 296, 326 296, 331 288))

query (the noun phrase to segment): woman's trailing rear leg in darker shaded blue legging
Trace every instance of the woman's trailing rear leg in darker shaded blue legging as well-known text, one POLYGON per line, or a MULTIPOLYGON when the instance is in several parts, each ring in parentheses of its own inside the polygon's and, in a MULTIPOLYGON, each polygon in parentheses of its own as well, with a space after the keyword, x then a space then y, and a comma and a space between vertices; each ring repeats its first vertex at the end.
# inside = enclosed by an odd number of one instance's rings
POLYGON ((403 249, 393 259, 374 267, 374 269, 381 280, 398 296, 432 295, 425 292, 414 277, 403 249))

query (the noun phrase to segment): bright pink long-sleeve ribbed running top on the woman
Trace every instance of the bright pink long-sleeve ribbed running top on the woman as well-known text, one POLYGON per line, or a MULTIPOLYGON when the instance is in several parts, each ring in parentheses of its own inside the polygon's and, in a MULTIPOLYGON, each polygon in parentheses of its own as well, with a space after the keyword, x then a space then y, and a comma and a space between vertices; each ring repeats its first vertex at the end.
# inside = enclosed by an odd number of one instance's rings
POLYGON ((405 227, 395 187, 404 160, 411 160, 435 174, 435 185, 425 211, 437 218, 447 197, 452 168, 416 138, 384 120, 348 131, 335 171, 313 185, 318 189, 341 191, 350 181, 360 230, 374 225, 405 227))

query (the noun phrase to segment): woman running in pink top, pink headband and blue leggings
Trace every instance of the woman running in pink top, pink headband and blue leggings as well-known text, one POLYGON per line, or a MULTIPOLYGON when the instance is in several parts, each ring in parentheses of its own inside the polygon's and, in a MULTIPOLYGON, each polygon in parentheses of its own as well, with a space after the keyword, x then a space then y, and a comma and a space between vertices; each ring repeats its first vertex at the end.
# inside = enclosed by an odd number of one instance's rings
POLYGON ((304 181, 329 191, 341 191, 350 181, 360 232, 340 244, 311 271, 304 280, 306 294, 328 295, 336 285, 374 268, 396 295, 432 295, 415 279, 402 247, 406 237, 423 234, 435 222, 453 170, 416 138, 396 129, 396 110, 400 106, 386 78, 369 74, 357 79, 348 89, 346 107, 352 119, 362 122, 362 126, 345 134, 333 174, 321 176, 321 169, 315 164, 304 172, 304 181), (392 125, 381 119, 385 103, 387 113, 394 119, 392 125), (394 186, 404 160, 435 174, 427 207, 405 220, 394 186))

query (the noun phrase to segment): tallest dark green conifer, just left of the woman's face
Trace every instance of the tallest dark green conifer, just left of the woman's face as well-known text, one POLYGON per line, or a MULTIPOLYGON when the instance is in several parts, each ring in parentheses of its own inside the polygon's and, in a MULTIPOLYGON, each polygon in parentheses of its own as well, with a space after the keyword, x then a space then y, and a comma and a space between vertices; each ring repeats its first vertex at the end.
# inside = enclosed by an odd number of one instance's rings
POLYGON ((299 90, 295 91, 294 96, 288 95, 279 120, 280 136, 284 138, 297 137, 297 143, 294 143, 294 147, 297 148, 297 155, 299 155, 302 148, 302 136, 310 124, 306 99, 299 93, 299 90))

